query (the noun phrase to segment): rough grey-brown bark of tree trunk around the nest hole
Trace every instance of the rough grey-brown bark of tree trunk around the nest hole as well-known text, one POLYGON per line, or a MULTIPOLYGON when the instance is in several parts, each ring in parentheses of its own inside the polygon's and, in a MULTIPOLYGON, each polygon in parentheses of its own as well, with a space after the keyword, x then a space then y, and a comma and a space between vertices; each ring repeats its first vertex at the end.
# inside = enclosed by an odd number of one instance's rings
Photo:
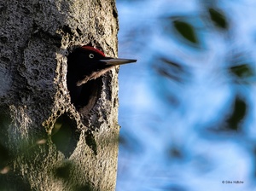
POLYGON ((91 82, 80 113, 66 82, 74 47, 117 55, 114 0, 9 0, 0 14, 0 187, 114 190, 118 71, 91 82))

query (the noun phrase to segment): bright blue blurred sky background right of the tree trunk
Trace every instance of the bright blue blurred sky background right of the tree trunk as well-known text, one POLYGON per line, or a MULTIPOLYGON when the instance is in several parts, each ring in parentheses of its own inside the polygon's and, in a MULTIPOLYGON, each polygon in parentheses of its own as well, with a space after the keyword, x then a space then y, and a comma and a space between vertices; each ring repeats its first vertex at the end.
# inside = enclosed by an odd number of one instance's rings
POLYGON ((256 190, 256 2, 117 0, 117 8, 119 57, 138 61, 119 72, 116 190, 256 190), (208 8, 222 11, 226 29, 208 8), (193 26, 199 43, 173 20, 193 26))

